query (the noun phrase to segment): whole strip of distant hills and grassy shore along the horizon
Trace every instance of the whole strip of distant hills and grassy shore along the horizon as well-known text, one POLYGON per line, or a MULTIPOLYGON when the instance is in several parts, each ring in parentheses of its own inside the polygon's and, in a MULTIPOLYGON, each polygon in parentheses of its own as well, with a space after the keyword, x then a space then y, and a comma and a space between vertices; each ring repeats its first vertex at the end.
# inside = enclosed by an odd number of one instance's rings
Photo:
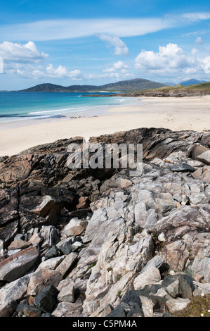
MULTIPOLYGON (((143 78, 135 78, 133 80, 121 80, 119 82, 109 83, 105 85, 70 85, 64 87, 62 85, 55 85, 51 83, 39 84, 27 89, 21 89, 13 92, 51 92, 51 93, 88 93, 96 92, 100 94, 93 94, 94 96, 117 96, 124 93, 124 96, 186 96, 186 95, 203 95, 209 94, 209 82, 204 80, 185 80, 178 85, 170 83, 166 85, 152 80, 145 80, 143 78), (184 89, 183 89, 184 88, 184 89), (185 90, 187 89, 187 90, 185 90), (114 95, 113 95, 114 93, 114 95), (129 95, 127 94, 129 93, 129 95), (130 95, 131 93, 131 95, 130 95), (126 94, 126 95, 125 95, 126 94), (154 95, 153 95, 154 94, 154 95)), ((3 91, 1 91, 3 92, 3 91)), ((89 96, 92 96, 89 95, 89 96)))

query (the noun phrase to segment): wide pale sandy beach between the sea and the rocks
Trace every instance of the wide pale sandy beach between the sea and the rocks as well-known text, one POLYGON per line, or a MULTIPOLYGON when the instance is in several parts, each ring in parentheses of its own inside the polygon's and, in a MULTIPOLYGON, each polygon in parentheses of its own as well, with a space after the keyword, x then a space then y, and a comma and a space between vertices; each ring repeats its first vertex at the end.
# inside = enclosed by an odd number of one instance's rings
POLYGON ((210 132, 210 96, 140 98, 139 104, 110 106, 81 118, 30 120, 0 124, 0 156, 70 137, 92 137, 139 127, 210 132))

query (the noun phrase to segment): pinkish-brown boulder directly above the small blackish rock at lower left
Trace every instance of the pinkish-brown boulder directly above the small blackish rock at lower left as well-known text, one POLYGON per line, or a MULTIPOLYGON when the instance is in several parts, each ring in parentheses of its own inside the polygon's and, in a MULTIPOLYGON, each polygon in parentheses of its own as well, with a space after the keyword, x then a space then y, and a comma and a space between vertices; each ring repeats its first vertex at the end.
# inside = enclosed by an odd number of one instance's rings
POLYGON ((62 275, 56 270, 40 269, 31 275, 27 294, 36 296, 47 285, 57 287, 62 279, 62 275))

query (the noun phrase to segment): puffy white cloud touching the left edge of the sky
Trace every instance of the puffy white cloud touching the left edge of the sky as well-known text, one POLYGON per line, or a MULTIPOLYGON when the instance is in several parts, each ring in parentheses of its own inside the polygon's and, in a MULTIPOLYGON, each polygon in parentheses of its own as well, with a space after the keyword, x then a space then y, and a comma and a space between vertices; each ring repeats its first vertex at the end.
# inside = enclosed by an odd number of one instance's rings
POLYGON ((0 44, 0 55, 4 61, 21 63, 39 63, 48 58, 48 54, 40 52, 34 42, 27 44, 3 42, 0 44))

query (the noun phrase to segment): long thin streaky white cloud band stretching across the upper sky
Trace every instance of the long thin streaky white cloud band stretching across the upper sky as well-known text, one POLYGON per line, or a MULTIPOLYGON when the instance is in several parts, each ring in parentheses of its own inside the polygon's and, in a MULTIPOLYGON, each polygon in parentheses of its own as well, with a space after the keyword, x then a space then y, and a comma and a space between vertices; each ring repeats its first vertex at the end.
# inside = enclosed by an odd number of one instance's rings
MULTIPOLYGON (((67 20, 41 20, 32 23, 1 25, 1 35, 6 40, 32 39, 34 41, 59 40, 107 35, 135 37, 157 32, 169 27, 189 25, 208 20, 210 12, 166 15, 163 18, 92 18, 67 20)), ((122 51, 121 46, 119 50, 122 51)))

